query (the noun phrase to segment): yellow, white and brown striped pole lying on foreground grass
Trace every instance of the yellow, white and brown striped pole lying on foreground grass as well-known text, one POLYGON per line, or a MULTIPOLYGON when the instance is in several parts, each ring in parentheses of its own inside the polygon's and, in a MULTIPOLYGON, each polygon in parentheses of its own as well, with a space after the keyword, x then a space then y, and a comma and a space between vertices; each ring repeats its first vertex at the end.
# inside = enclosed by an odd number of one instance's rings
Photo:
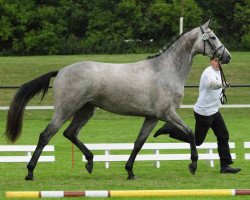
POLYGON ((62 197, 179 197, 250 195, 250 189, 200 190, 89 190, 89 191, 7 191, 6 198, 62 197))

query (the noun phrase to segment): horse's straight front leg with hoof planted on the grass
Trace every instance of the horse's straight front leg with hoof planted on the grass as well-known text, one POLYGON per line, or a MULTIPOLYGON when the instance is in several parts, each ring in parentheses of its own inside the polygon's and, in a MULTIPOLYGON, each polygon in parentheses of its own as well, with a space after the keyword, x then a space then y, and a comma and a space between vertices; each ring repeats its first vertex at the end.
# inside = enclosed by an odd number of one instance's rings
POLYGON ((128 172, 128 179, 133 180, 136 179, 134 173, 133 173, 133 165, 135 162, 135 158, 138 154, 138 152, 141 150, 143 144, 147 140, 149 134, 156 126, 158 120, 155 118, 145 118, 144 123, 142 125, 142 128, 139 132, 139 135, 134 143, 134 148, 132 150, 132 153, 126 163, 125 169, 128 172))

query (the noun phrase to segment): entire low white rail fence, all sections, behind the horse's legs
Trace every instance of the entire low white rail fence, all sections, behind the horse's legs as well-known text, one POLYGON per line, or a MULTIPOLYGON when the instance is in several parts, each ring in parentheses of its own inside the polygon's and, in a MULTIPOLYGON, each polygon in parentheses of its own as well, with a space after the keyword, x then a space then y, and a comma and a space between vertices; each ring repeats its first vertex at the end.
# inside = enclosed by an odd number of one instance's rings
MULTIPOLYGON (((105 167, 110 167, 110 162, 127 161, 129 154, 134 147, 133 143, 107 143, 107 144, 86 144, 91 151, 103 151, 103 154, 94 156, 94 161, 105 162, 105 167), (127 152, 126 152, 127 151, 127 152), (128 154, 129 151, 129 154, 128 154), (127 154, 125 154, 127 153, 127 154)), ((235 149, 235 143, 229 142, 230 149, 235 149)), ((29 162, 32 152, 36 145, 0 145, 0 153, 8 153, 8 155, 0 155, 1 162, 29 162), (13 155, 14 152, 24 152, 25 155, 13 155)), ((244 142, 244 148, 250 149, 250 142, 244 142)), ((197 146, 199 160, 206 160, 211 167, 214 167, 214 160, 219 160, 217 153, 217 143, 205 142, 201 146, 197 146), (216 150, 216 151, 215 151, 216 150)), ((54 152, 53 145, 47 145, 43 152, 54 152)), ((232 159, 236 159, 236 153, 231 153, 232 159)), ((245 160, 250 160, 250 153, 244 154, 245 160)), ((86 161, 84 156, 83 161, 86 161)), ((187 143, 145 143, 142 151, 137 155, 137 161, 154 161, 157 168, 160 167, 160 161, 163 160, 190 160, 190 145, 187 143), (147 150, 145 152, 145 150, 147 150), (149 153, 149 151, 151 153, 149 153), (170 152, 166 152, 171 150, 170 152), (188 150, 188 152, 186 151, 188 150), (161 152, 160 152, 161 151, 161 152), (178 151, 181 151, 178 152, 178 151), (186 151, 186 152, 184 152, 186 151), (174 152, 174 153, 173 153, 174 152), (178 152, 178 153, 177 153, 178 152), (184 152, 184 153, 183 153, 184 152)), ((40 156, 39 162, 53 162, 54 155, 40 156)), ((72 160, 73 161, 73 160, 72 160)))

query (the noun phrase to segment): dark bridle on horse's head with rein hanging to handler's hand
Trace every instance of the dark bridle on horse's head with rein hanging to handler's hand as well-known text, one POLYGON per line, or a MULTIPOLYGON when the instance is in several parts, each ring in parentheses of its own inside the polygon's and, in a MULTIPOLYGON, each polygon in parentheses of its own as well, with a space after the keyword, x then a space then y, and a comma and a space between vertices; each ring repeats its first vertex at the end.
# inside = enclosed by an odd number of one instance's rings
MULTIPOLYGON (((224 52, 225 52, 225 47, 224 45, 219 46, 217 49, 212 45, 212 43, 209 41, 209 35, 208 33, 205 33, 204 30, 202 29, 202 27, 200 26, 201 29, 201 33, 202 33, 202 40, 204 41, 204 51, 203 51, 203 55, 205 55, 205 51, 206 51, 206 42, 208 43, 208 45, 210 46, 210 48, 213 51, 213 58, 217 58, 216 54, 218 53, 218 51, 223 48, 223 52, 222 55, 219 56, 217 59, 221 60, 223 58, 224 52)), ((222 82, 222 86, 223 87, 229 87, 228 83, 226 82, 226 78, 225 75, 223 73, 223 70, 221 68, 221 64, 219 62, 219 68, 220 68, 220 74, 221 74, 221 82, 222 82)), ((221 104, 226 104, 227 103, 227 96, 225 93, 225 89, 222 88, 221 94, 220 94, 220 102, 221 104)))

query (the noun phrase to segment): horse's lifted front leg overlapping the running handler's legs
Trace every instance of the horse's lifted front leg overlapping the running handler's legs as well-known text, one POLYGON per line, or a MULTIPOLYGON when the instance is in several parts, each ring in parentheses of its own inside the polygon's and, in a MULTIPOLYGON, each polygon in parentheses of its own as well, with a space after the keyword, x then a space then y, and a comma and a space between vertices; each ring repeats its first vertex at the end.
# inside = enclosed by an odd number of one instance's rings
POLYGON ((193 131, 181 120, 181 118, 177 115, 177 113, 171 112, 168 113, 166 117, 163 118, 164 121, 173 124, 174 126, 181 129, 179 134, 187 134, 186 136, 182 136, 181 138, 187 138, 190 144, 191 149, 191 161, 192 163, 189 164, 189 170, 192 174, 195 174, 197 169, 197 160, 198 160, 198 153, 195 144, 195 137, 193 131))

